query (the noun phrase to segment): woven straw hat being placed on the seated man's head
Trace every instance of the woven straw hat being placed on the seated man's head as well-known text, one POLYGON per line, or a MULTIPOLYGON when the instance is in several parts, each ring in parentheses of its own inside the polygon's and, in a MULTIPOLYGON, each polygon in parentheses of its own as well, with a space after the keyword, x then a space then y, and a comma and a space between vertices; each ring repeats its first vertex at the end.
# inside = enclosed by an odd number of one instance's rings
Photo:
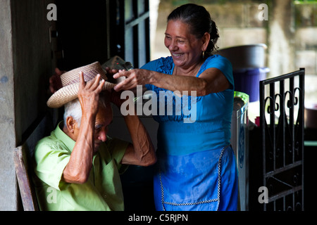
MULTIPOLYGON (((69 72, 61 75, 61 83, 63 87, 56 91, 51 98, 49 98, 49 101, 47 101, 47 105, 50 108, 60 108, 66 103, 78 98, 80 72, 84 74, 85 82, 89 82, 97 75, 101 75, 101 79, 104 79, 105 81, 107 80, 106 72, 102 70, 99 62, 70 70, 69 72)), ((116 86, 116 84, 105 82, 104 90, 111 90, 114 86, 116 86)))

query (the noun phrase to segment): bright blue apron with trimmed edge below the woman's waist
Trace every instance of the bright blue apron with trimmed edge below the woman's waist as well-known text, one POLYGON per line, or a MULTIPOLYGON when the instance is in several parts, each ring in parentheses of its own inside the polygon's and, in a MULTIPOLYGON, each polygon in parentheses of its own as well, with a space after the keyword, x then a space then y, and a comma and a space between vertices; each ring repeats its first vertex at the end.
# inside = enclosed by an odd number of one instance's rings
POLYGON ((159 155, 154 200, 159 211, 237 210, 237 166, 230 146, 159 155))

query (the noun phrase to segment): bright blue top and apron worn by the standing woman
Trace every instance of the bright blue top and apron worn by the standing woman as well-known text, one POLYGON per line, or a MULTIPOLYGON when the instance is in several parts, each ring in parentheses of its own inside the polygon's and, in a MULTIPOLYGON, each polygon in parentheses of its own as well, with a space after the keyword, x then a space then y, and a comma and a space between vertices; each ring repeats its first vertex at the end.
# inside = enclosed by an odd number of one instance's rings
MULTIPOLYGON (((156 210, 237 210, 237 165, 230 146, 232 66, 226 58, 213 55, 201 65, 197 77, 208 68, 223 72, 230 89, 195 97, 146 85, 157 97, 153 98, 157 100, 153 117, 159 122, 156 210)), ((173 59, 160 58, 142 69, 172 75, 173 59)))

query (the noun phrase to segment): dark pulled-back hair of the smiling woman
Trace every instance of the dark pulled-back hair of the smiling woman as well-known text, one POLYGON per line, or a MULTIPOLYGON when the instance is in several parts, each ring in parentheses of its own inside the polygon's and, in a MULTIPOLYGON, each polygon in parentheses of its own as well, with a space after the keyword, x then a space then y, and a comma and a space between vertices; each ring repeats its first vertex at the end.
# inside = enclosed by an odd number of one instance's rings
POLYGON ((216 51, 218 46, 216 43, 219 38, 218 28, 216 23, 211 20, 211 16, 204 6, 198 6, 196 4, 185 4, 168 15, 168 21, 180 20, 183 23, 187 23, 191 27, 191 32, 197 38, 204 36, 206 32, 210 34, 210 43, 206 49, 206 54, 211 55, 213 51, 216 51))

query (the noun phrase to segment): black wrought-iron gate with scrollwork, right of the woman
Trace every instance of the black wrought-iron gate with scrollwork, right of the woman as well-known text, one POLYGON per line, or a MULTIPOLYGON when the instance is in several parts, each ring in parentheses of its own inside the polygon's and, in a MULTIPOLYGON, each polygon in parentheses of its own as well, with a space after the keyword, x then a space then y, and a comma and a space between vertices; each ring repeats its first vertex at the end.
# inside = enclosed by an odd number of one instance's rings
POLYGON ((304 75, 301 68, 260 82, 265 211, 304 210, 304 75))

